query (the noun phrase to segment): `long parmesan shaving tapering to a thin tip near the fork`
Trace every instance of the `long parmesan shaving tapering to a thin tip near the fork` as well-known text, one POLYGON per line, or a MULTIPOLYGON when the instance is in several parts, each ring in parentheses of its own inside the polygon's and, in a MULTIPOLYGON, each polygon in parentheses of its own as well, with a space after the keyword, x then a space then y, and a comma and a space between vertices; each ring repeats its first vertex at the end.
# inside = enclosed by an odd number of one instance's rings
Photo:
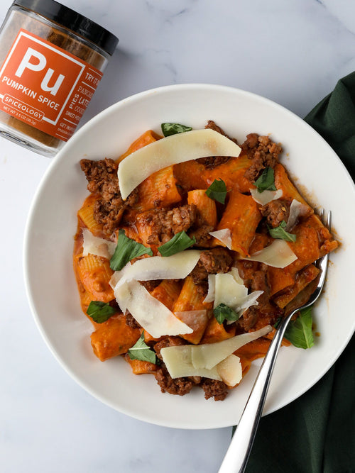
MULTIPOLYGON (((222 342, 204 343, 203 345, 193 345, 192 350, 192 365, 197 368, 204 367, 210 369, 219 362, 222 362, 226 357, 234 353, 238 348, 252 342, 257 338, 263 337, 271 332, 273 328, 271 325, 256 330, 255 332, 241 333, 232 338, 227 338, 222 342)), ((168 347, 175 348, 175 347, 168 347)))

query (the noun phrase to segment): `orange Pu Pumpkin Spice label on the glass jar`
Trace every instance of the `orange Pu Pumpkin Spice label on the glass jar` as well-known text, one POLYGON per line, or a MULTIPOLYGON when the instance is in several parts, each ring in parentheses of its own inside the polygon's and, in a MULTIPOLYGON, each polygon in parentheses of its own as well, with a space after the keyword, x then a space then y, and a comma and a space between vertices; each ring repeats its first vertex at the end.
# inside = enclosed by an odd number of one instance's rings
POLYGON ((21 29, 0 69, 0 110, 67 141, 102 75, 70 52, 21 29))

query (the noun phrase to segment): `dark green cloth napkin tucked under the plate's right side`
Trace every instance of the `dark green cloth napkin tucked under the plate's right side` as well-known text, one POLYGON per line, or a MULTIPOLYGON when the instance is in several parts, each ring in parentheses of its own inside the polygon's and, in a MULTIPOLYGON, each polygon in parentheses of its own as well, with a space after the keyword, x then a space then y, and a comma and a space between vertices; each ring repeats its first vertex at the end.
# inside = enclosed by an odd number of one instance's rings
MULTIPOLYGON (((327 140, 354 179, 355 72, 340 79, 305 121, 327 140)), ((345 284, 350 289, 354 281, 345 284)), ((349 310, 355 317, 354 308, 349 310)), ((261 419, 246 472, 355 472, 355 336, 310 391, 261 419)))

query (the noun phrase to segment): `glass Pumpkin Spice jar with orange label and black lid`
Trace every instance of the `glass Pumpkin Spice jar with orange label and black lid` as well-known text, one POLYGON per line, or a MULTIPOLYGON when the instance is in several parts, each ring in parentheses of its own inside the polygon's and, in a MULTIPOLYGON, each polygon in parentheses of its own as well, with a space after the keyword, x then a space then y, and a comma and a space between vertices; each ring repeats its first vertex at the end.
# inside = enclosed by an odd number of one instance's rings
POLYGON ((89 104, 118 39, 54 0, 14 0, 0 30, 0 134, 55 155, 89 104))

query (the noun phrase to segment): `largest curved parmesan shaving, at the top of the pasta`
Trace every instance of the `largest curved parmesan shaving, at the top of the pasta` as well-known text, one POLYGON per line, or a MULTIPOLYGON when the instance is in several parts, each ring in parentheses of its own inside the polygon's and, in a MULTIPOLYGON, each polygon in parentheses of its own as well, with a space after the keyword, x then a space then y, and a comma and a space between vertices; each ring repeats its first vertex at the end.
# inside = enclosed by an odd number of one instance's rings
POLYGON ((162 138, 125 157, 119 163, 119 189, 126 199, 138 184, 164 167, 199 157, 239 156, 241 148, 211 129, 192 130, 162 138))

